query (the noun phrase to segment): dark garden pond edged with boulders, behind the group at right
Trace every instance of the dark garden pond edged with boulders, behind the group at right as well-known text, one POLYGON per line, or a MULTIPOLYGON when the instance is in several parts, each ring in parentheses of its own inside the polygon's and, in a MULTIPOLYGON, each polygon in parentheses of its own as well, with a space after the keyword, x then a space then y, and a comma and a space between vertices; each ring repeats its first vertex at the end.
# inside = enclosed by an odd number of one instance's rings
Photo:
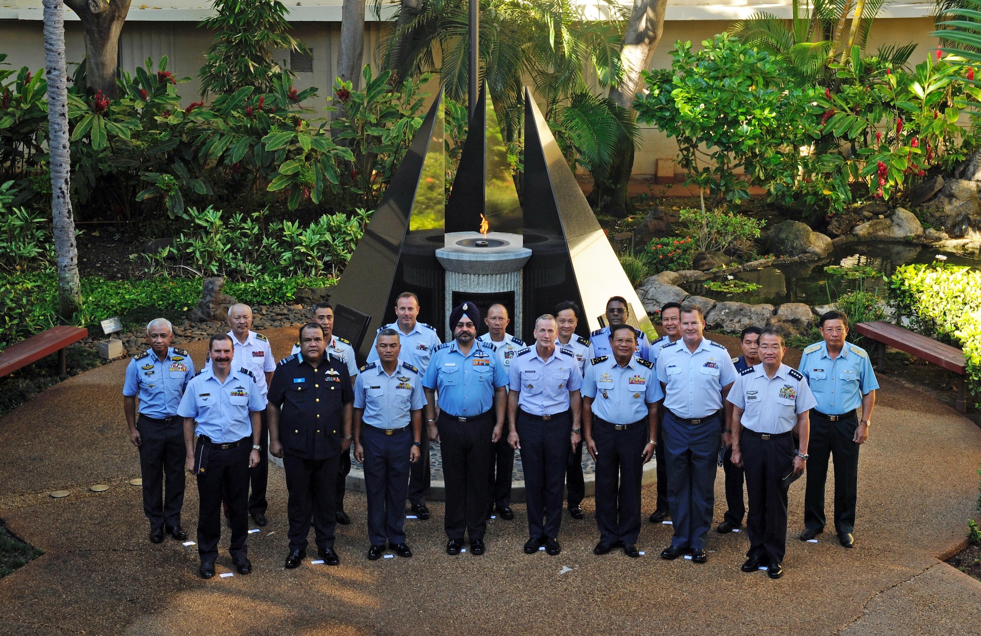
POLYGON ((981 269, 978 255, 944 252, 934 247, 908 245, 906 243, 864 242, 850 243, 835 249, 826 259, 807 263, 788 263, 770 268, 742 271, 737 278, 760 285, 754 291, 742 293, 717 292, 707 289, 703 282, 683 285, 686 291, 714 300, 741 303, 806 303, 823 305, 833 302, 841 294, 857 288, 866 291, 879 290, 885 295, 886 282, 882 276, 891 275, 897 266, 909 263, 933 263, 937 254, 947 257, 949 265, 962 265, 981 269), (828 266, 842 268, 869 268, 877 274, 848 278, 825 271, 828 266))

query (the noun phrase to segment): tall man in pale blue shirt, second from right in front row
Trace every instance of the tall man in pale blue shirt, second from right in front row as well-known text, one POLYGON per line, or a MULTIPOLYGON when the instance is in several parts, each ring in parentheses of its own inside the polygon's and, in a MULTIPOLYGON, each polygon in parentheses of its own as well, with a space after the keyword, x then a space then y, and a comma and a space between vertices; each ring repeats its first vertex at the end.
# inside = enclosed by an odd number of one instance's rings
MULTIPOLYGON (((686 552, 705 563, 705 535, 715 505, 716 456, 722 443, 723 400, 736 381, 729 353, 702 336, 701 308, 681 308, 682 338, 661 348, 657 379, 664 385, 664 457, 674 536, 661 552, 677 559, 686 552)), ((728 414, 731 403, 725 403, 728 414)))

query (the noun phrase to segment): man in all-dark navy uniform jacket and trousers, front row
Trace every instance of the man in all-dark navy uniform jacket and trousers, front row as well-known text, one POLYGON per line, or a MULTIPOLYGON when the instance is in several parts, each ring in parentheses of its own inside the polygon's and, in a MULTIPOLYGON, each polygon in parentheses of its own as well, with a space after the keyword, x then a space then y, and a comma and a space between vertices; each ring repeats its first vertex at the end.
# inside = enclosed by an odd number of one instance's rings
POLYGON ((282 361, 269 387, 269 450, 283 458, 289 500, 289 554, 285 566, 306 558, 310 516, 317 554, 328 565, 334 551, 336 478, 340 455, 351 445, 351 390, 347 366, 325 356, 324 328, 300 327, 300 353, 282 361))

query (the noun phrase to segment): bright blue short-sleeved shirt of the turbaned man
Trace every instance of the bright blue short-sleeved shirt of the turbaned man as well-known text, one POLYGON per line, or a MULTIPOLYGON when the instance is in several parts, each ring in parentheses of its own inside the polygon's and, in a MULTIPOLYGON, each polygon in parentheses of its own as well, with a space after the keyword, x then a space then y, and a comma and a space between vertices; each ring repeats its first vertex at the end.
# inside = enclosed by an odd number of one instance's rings
POLYGON ((423 386, 437 390, 439 410, 447 416, 474 417, 490 411, 494 388, 507 386, 507 373, 493 345, 475 340, 464 356, 452 340, 433 353, 423 386))

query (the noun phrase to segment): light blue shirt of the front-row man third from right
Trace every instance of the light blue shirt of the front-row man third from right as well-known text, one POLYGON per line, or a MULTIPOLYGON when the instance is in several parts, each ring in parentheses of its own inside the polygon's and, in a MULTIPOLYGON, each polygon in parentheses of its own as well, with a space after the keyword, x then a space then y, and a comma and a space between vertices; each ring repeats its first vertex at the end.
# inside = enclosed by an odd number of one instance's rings
POLYGON ((647 405, 664 397, 654 365, 631 358, 620 367, 612 358, 594 358, 586 367, 583 397, 594 398, 593 415, 611 424, 632 424, 647 416, 647 405))

